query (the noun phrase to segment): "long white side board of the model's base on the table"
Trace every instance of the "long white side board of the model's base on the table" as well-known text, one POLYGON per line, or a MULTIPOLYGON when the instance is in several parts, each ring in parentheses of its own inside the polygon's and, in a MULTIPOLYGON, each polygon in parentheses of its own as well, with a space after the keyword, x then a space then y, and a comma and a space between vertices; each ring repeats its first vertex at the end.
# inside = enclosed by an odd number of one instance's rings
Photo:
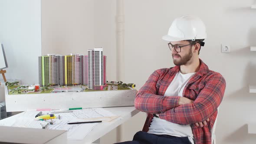
POLYGON ((5 86, 7 111, 26 111, 38 108, 104 108, 133 106, 136 90, 61 92, 47 94, 9 95, 5 86))

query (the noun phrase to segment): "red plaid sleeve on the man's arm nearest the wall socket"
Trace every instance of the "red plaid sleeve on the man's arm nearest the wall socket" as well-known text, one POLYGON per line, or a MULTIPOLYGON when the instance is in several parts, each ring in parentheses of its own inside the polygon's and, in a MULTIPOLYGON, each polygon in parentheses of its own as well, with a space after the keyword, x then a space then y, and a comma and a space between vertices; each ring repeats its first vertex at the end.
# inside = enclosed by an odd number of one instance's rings
POLYGON ((225 79, 219 73, 215 73, 207 80, 194 103, 172 108, 159 114, 159 117, 176 124, 194 124, 205 121, 219 107, 225 88, 225 79))

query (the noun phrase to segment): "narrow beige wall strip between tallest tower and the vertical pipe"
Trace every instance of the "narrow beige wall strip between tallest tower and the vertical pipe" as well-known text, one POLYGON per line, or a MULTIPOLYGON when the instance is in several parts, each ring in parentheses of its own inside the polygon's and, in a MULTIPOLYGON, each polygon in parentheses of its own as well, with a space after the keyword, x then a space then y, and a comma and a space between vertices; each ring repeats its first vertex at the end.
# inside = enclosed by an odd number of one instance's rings
POLYGON ((116 0, 94 1, 94 46, 103 47, 103 55, 107 56, 107 80, 117 78, 116 57, 116 0))

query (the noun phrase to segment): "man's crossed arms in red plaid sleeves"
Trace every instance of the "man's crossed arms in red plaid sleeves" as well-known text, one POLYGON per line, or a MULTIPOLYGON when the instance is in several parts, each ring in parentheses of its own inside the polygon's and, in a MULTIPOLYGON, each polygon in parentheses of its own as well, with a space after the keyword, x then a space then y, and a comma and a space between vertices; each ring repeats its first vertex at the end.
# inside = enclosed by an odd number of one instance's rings
POLYGON ((160 70, 154 71, 138 91, 136 109, 159 114, 161 119, 176 124, 195 124, 206 121, 219 107, 226 87, 225 79, 219 73, 209 76, 195 101, 180 96, 157 95, 156 85, 160 73, 160 70))

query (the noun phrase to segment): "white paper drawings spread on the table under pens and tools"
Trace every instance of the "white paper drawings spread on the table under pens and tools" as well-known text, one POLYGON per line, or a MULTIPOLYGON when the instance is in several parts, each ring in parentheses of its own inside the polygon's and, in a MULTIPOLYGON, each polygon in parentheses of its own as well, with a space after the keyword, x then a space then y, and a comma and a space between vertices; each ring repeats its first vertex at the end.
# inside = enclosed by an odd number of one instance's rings
MULTIPOLYGON (((42 125, 46 125, 46 121, 34 121, 35 115, 39 111, 24 111, 19 118, 12 124, 13 127, 26 127, 26 128, 42 128, 42 125), (41 124, 40 124, 41 123, 41 124)), ((53 111, 43 111, 43 115, 51 113, 53 111)), ((60 119, 52 119, 53 124, 48 124, 46 129, 66 130, 68 131, 68 139, 82 140, 92 129, 99 123, 88 124, 67 124, 73 121, 85 121, 85 119, 97 118, 116 118, 110 111, 106 111, 103 108, 85 108, 82 110, 73 110, 68 113, 55 114, 56 118, 60 115, 60 119)), ((47 120, 50 121, 50 120, 47 120)))

